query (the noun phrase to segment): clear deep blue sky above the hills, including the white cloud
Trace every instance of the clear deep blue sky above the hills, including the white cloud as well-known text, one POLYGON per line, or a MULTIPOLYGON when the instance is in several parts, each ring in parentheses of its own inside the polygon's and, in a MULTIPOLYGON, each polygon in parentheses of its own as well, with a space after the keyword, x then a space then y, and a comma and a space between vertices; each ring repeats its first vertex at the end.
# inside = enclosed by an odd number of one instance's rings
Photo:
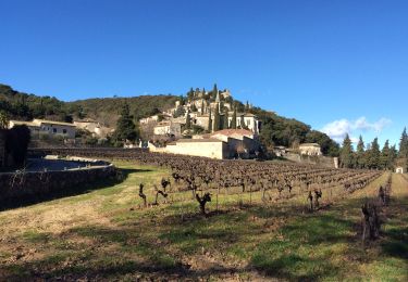
POLYGON ((64 101, 234 98, 342 141, 408 126, 406 0, 0 0, 0 84, 64 101))

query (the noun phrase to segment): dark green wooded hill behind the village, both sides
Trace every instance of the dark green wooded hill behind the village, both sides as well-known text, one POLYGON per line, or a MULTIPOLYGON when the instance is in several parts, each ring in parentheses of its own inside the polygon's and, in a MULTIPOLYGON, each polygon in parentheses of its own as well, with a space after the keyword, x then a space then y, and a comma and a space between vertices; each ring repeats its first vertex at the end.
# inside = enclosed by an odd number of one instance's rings
MULTIPOLYGON (((209 92, 209 98, 214 95, 209 92)), ((174 107, 175 101, 188 99, 184 97, 140 95, 133 98, 101 98, 87 99, 75 102, 63 102, 53 97, 38 97, 13 90, 10 86, 0 85, 0 110, 10 118, 30 120, 32 118, 47 118, 59 121, 72 121, 75 118, 94 118, 109 127, 115 127, 120 111, 126 102, 135 120, 148 117, 174 107)), ((292 146, 302 142, 316 142, 322 146, 327 155, 338 155, 338 144, 326 134, 312 130, 310 126, 292 118, 279 116, 260 107, 246 108, 239 101, 233 102, 238 111, 247 111, 258 116, 262 123, 262 143, 292 146)))

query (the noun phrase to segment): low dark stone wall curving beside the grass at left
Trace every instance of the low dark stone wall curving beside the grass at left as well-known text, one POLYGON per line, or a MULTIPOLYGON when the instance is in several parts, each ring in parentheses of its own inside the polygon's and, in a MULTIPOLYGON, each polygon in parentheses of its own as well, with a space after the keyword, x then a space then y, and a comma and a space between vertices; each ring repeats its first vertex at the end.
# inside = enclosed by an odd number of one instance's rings
POLYGON ((101 179, 114 179, 115 176, 113 165, 66 171, 0 174, 0 203, 52 192, 70 194, 70 190, 101 179))

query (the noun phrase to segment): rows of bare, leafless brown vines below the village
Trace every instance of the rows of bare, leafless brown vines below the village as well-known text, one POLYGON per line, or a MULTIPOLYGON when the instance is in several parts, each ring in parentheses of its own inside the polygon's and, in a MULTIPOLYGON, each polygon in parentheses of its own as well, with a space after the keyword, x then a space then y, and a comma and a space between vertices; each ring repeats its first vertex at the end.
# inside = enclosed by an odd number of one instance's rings
MULTIPOLYGON (((320 206, 319 198, 323 195, 326 202, 332 202, 364 188, 382 175, 381 171, 327 169, 282 162, 215 161, 203 157, 163 155, 144 150, 103 149, 89 152, 86 149, 50 149, 35 150, 33 153, 113 158, 168 168, 171 174, 154 184, 156 195, 153 195, 152 204, 158 204, 159 196, 166 200, 173 192, 190 191, 191 198, 197 198, 198 202, 203 193, 209 193, 209 196, 215 195, 217 209, 220 193, 248 194, 249 204, 251 204, 252 193, 260 192, 262 202, 302 196, 310 202, 309 206, 312 210, 313 207, 320 206)), ((144 200, 144 206, 147 206, 148 203, 143 193, 144 183, 138 184, 141 184, 139 194, 144 200)), ((207 201, 211 198, 208 197, 207 201)))

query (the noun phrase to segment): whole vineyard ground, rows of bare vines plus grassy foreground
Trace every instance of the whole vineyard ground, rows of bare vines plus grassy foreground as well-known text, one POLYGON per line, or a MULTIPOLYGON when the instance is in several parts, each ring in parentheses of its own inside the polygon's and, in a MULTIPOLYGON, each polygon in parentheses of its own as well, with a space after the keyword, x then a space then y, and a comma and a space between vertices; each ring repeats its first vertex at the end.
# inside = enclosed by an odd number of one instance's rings
POLYGON ((0 280, 408 278, 405 176, 143 150, 30 154, 109 159, 118 181, 1 211, 0 280))

